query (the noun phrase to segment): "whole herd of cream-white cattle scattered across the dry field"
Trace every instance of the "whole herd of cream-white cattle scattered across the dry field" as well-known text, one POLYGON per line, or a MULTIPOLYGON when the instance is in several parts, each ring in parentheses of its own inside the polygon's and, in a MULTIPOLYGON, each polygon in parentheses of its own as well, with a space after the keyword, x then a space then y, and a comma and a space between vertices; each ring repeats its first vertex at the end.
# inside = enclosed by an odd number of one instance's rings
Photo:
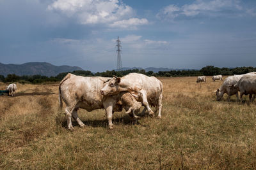
MULTIPOLYGON (((221 80, 222 76, 212 76, 212 80, 221 80)), ((206 82, 206 76, 198 76, 197 83, 206 82)), ((12 83, 6 87, 9 96, 15 96, 17 86, 12 83)), ((223 94, 230 96, 236 94, 237 100, 243 101, 243 95, 249 94, 250 101, 255 99, 256 94, 256 72, 241 75, 228 76, 217 89, 217 100, 220 101, 223 94), (240 99, 238 92, 240 91, 240 99)), ((154 76, 148 77, 144 74, 130 73, 123 77, 84 77, 68 73, 59 85, 60 107, 65 102, 65 115, 68 129, 72 130, 71 117, 73 117, 80 127, 84 127, 79 119, 77 111, 83 108, 86 111, 93 111, 103 108, 106 111, 109 128, 113 128, 112 118, 115 111, 126 110, 126 113, 134 119, 138 118, 136 113, 144 106, 141 114, 148 110, 150 117, 154 116, 154 111, 150 106, 156 106, 157 117, 161 118, 163 99, 163 84, 154 76)))

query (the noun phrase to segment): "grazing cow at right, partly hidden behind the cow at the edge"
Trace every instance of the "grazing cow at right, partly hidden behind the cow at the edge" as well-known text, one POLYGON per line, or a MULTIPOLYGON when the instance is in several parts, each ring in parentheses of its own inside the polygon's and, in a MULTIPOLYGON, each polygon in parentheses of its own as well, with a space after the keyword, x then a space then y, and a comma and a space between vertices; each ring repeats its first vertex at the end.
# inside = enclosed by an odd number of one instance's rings
POLYGON ((236 94, 237 101, 239 101, 238 92, 236 89, 230 88, 230 85, 236 84, 244 75, 256 74, 256 72, 251 72, 247 74, 228 76, 222 83, 221 87, 217 89, 214 93, 216 93, 217 101, 220 101, 225 93, 228 95, 228 101, 230 101, 230 97, 236 94))

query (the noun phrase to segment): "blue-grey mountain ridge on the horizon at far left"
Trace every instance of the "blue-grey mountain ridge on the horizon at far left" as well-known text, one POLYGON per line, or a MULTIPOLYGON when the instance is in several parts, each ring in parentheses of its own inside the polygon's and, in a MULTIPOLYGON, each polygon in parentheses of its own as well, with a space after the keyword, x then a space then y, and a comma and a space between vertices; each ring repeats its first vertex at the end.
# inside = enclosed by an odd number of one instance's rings
POLYGON ((56 76, 59 73, 83 70, 81 67, 72 66, 54 66, 48 62, 26 62, 24 64, 2 64, 0 62, 0 74, 56 76))

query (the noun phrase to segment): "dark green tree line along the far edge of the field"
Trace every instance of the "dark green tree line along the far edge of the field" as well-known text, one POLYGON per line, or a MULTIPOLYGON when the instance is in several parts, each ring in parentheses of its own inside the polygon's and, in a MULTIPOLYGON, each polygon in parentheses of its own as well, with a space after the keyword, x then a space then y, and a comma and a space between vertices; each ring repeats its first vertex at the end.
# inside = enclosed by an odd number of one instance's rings
POLYGON ((182 71, 159 71, 154 73, 153 71, 145 71, 144 69, 129 69, 124 71, 104 71, 92 73, 92 71, 76 70, 72 72, 60 73, 57 76, 42 76, 42 75, 31 75, 31 76, 18 76, 16 74, 8 74, 6 77, 0 75, 0 81, 2 82, 19 82, 19 83, 45 83, 45 82, 56 82, 61 81, 68 73, 76 74, 79 76, 104 76, 112 77, 115 76, 125 76, 129 73, 141 73, 147 76, 212 76, 212 75, 233 75, 233 74, 245 74, 252 71, 256 71, 256 67, 214 67, 214 66, 205 66, 200 70, 182 70, 182 71))

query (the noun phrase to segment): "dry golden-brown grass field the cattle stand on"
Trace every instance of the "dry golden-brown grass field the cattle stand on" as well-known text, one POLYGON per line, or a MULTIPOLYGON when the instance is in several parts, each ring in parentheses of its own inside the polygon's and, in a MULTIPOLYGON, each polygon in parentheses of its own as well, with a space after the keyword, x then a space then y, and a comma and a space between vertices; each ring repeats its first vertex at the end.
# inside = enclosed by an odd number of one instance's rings
POLYGON ((104 110, 79 110, 86 127, 68 131, 58 84, 18 84, 0 96, 0 169, 256 169, 255 103, 216 101, 210 79, 160 78, 162 118, 122 111, 113 130, 104 110))

